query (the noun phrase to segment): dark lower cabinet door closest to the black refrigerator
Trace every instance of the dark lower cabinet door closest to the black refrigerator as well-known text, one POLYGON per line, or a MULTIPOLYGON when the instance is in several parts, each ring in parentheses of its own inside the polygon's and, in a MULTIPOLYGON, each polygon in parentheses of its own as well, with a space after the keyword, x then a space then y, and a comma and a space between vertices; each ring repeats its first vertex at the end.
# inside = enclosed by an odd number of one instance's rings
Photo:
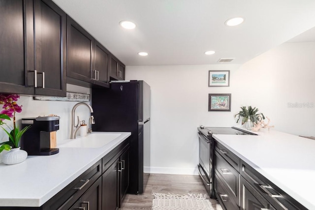
POLYGON ((129 149, 122 154, 120 162, 122 163, 122 169, 120 174, 119 208, 121 208, 123 204, 129 187, 129 149))

